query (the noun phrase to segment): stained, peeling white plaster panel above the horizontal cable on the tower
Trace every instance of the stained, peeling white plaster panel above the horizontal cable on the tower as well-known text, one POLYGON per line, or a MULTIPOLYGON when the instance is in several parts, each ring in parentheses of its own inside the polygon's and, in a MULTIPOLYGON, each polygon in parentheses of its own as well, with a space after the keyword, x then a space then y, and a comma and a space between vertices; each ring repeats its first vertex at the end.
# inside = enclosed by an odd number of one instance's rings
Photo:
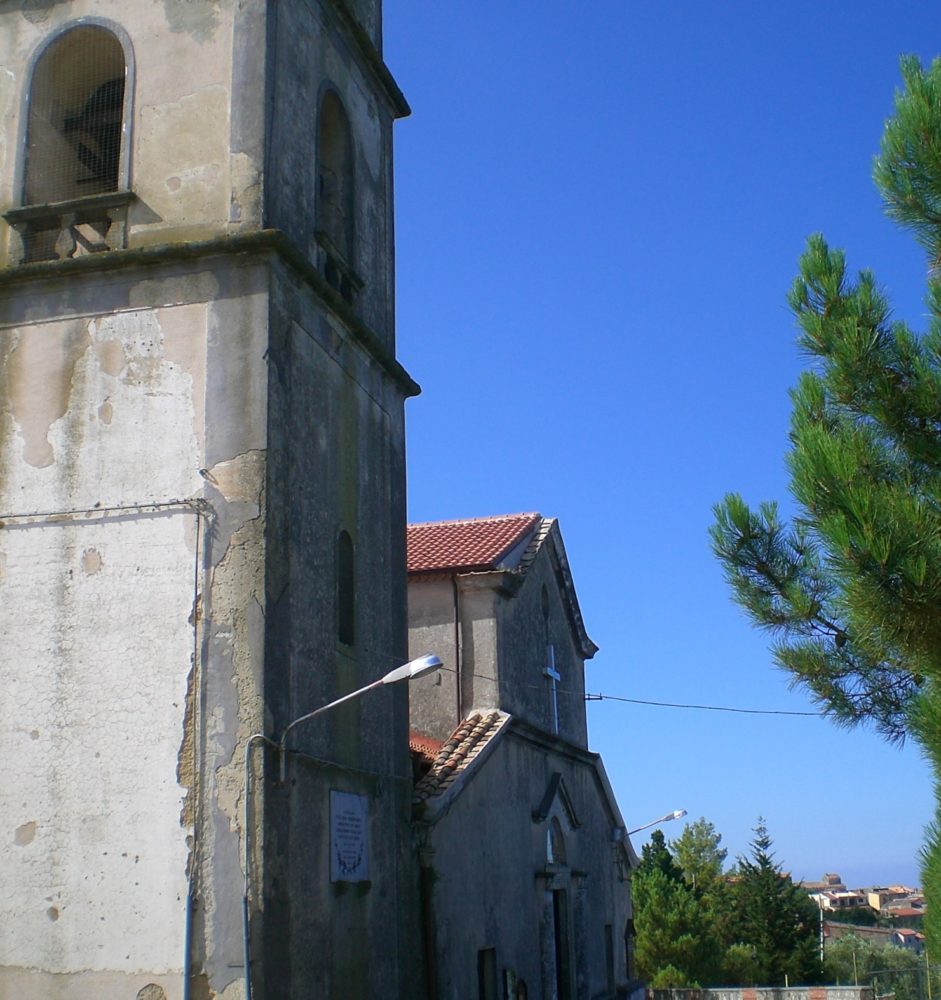
POLYGON ((206 315, 205 304, 194 304, 17 331, 11 363, 25 368, 10 402, 13 433, 0 436, 0 509, 198 493, 206 315), (195 359, 192 370, 180 363, 181 342, 195 359), (43 381, 44 372, 55 377, 43 381))

